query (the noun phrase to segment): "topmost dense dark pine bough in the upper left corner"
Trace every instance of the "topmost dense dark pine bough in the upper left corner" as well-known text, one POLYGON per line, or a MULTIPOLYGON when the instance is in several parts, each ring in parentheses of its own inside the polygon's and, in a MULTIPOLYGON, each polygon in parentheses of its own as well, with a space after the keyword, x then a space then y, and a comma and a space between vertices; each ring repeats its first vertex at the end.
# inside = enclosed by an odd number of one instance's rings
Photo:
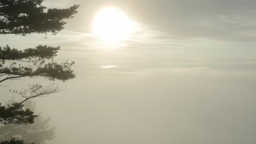
POLYGON ((1 0, 0 34, 56 34, 63 29, 63 19, 72 18, 79 5, 67 9, 47 9, 43 0, 1 0))

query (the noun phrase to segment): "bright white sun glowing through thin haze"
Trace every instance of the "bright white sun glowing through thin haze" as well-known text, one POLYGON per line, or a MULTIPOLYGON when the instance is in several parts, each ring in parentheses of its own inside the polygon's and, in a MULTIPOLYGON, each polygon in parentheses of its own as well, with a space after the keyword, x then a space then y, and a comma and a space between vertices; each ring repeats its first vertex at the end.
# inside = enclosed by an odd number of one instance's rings
POLYGON ((94 34, 106 41, 120 41, 129 38, 136 23, 116 8, 102 9, 93 20, 94 34))

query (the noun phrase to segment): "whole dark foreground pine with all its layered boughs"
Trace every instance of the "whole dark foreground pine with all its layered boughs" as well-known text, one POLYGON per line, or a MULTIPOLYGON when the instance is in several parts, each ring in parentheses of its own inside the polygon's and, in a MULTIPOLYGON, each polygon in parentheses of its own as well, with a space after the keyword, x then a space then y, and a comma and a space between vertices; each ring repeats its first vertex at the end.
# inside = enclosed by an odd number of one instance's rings
MULTIPOLYGON (((65 19, 72 18, 78 11, 79 5, 67 9, 47 9, 42 5, 43 0, 0 0, 0 34, 51 33, 61 31, 66 24, 65 19)), ((39 45, 36 48, 18 50, 10 46, 0 47, 0 84, 7 80, 20 78, 45 77, 49 80, 66 81, 75 77, 71 65, 74 62, 54 62, 54 57, 60 47, 39 45)), ((30 109, 24 109, 24 102, 36 97, 45 97, 59 92, 57 87, 30 85, 21 92, 22 101, 13 101, 8 106, 0 105, 0 123, 28 124, 33 123, 34 115, 30 109)), ((4 143, 24 143, 11 139, 4 143)))

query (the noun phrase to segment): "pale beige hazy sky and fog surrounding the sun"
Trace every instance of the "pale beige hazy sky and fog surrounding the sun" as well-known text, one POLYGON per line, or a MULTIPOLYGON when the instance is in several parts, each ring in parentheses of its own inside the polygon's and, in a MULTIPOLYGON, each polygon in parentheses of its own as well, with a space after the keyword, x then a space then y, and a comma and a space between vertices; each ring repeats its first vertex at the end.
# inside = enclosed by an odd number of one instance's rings
POLYGON ((256 1, 45 1, 72 4, 79 13, 57 35, 0 36, 17 49, 60 45, 56 60, 75 61, 65 91, 36 99, 56 126, 49 143, 256 142, 256 1), (114 44, 92 36, 107 7, 137 22, 136 33, 114 44))

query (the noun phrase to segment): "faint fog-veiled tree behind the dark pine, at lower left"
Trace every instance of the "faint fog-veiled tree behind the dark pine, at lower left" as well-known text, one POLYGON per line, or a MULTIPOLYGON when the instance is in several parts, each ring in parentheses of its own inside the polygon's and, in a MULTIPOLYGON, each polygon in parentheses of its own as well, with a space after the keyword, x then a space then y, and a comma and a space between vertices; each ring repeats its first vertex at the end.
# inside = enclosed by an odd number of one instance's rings
MULTIPOLYGON (((24 104, 25 109, 35 110, 35 103, 31 100, 26 101, 24 104)), ((0 140, 18 139, 23 140, 25 143, 38 143, 44 144, 46 141, 55 138, 55 128, 49 127, 51 118, 43 118, 42 113, 34 119, 33 124, 16 125, 7 124, 0 127, 0 140)))

